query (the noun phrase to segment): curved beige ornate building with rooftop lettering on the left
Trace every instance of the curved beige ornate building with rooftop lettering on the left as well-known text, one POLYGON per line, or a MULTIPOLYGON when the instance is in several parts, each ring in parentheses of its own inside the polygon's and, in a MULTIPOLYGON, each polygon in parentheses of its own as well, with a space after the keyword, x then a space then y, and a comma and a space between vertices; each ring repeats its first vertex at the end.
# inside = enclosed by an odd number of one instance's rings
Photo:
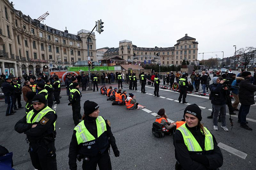
POLYGON ((96 39, 90 31, 77 35, 57 30, 0 1, 0 73, 38 75, 50 69, 72 66, 80 60, 96 60, 96 39), (89 56, 87 40, 89 38, 89 56))

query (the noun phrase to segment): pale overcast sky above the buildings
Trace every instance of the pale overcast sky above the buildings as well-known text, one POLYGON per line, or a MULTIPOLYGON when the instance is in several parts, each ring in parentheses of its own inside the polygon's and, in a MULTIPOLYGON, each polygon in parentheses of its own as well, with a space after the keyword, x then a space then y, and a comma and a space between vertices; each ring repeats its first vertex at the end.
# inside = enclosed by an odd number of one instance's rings
MULTIPOLYGON (((10 0, 11 1, 11 0, 10 0)), ((118 47, 127 39, 138 47, 172 47, 185 34, 196 38, 204 59, 234 55, 235 48, 256 47, 254 0, 12 0, 15 9, 44 24, 77 34, 102 19, 96 48, 118 47), (219 53, 207 53, 219 52, 219 53)), ((198 54, 202 59, 202 54, 198 54)))

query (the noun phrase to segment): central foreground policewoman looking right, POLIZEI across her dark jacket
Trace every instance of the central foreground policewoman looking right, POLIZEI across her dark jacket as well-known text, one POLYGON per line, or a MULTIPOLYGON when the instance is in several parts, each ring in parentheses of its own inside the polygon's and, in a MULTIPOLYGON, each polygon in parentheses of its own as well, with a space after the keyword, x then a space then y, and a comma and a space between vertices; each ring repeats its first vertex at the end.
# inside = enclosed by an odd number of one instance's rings
POLYGON ((110 122, 99 116, 99 105, 84 102, 83 121, 74 129, 69 145, 69 169, 76 170, 76 159, 83 160, 83 170, 111 170, 108 149, 111 145, 116 157, 119 150, 110 128, 110 122))

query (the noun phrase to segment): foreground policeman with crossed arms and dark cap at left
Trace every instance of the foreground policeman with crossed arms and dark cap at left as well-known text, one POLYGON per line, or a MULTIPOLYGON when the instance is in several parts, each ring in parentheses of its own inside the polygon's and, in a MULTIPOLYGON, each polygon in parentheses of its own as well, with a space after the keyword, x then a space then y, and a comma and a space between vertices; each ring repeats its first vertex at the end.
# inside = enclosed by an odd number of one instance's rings
MULTIPOLYGON (((32 99, 34 109, 19 120, 14 129, 25 133, 32 165, 38 170, 57 170, 54 140, 57 114, 46 105, 44 95, 32 99)), ((25 153, 24 153, 25 154, 25 153)))

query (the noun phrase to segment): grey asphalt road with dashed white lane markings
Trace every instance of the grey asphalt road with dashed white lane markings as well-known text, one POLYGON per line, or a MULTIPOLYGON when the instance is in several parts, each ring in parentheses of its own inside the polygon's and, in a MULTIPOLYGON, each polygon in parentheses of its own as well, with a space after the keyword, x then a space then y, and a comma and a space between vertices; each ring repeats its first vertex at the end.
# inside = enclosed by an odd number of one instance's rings
MULTIPOLYGON (((212 76, 211 76, 212 77, 212 76)), ((139 84, 139 83, 138 83, 139 84)), ((113 85, 114 87, 117 84, 113 85)), ((180 121, 183 118, 186 104, 179 103, 178 92, 160 89, 159 95, 155 97, 154 86, 146 85, 147 94, 138 91, 128 90, 128 85, 123 85, 127 94, 132 92, 136 100, 145 109, 126 110, 125 106, 112 106, 107 97, 100 92, 83 92, 81 102, 81 113, 83 113, 83 103, 86 100, 94 101, 100 105, 100 115, 111 122, 111 130, 116 138, 116 144, 120 151, 120 156, 116 158, 111 150, 111 163, 113 170, 162 170, 174 169, 176 159, 174 156, 173 136, 165 136, 161 139, 152 135, 152 123, 155 121, 155 114, 159 109, 164 108, 168 118, 172 121, 180 121)), ((108 86, 107 86, 108 87, 108 86)), ((201 87, 200 87, 201 88, 201 87)), ((202 90, 202 88, 200 89, 202 90)), ((68 97, 65 89, 61 91, 61 104, 54 106, 58 119, 56 122, 57 137, 55 147, 57 149, 58 170, 67 170, 68 150, 73 133, 72 109, 68 106, 68 97)), ((202 109, 202 123, 216 137, 217 143, 221 147, 224 157, 223 166, 220 170, 252 170, 256 167, 256 106, 250 108, 248 114, 249 126, 253 131, 248 131, 239 127, 237 115, 232 115, 234 126, 231 129, 229 116, 226 117, 227 127, 230 130, 225 132, 213 130, 212 119, 206 117, 210 115, 212 105, 209 96, 199 96, 188 94, 186 101, 188 104, 196 103, 202 109)), ((13 116, 5 116, 7 105, 1 100, 0 106, 0 144, 10 152, 14 152, 13 161, 16 170, 34 170, 29 153, 26 136, 14 131, 15 123, 25 116, 25 110, 17 110, 13 116)), ((22 101, 22 106, 25 102, 22 101)), ((228 109, 227 109, 228 112, 228 109)), ((238 112, 235 112, 238 114, 238 112)), ((78 169, 82 169, 82 163, 77 162, 78 169)))

